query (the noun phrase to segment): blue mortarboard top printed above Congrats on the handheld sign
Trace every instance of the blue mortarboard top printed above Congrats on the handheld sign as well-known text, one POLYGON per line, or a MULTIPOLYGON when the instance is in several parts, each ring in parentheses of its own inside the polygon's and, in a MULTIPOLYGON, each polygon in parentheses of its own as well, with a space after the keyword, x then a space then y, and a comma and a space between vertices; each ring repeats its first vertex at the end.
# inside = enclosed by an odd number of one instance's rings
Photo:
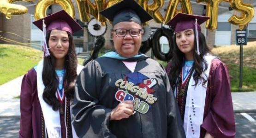
POLYGON ((143 80, 149 79, 147 76, 141 73, 128 73, 125 74, 125 76, 128 78, 128 81, 134 84, 143 83, 143 80))

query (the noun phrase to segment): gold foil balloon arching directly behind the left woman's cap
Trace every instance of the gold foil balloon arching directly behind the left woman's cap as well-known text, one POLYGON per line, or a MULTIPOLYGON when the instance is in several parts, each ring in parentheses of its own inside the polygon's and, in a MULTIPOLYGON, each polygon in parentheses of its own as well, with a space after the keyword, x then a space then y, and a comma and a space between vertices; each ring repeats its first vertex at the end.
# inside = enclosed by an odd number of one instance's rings
POLYGON ((47 8, 53 4, 59 4, 71 17, 75 17, 75 10, 71 0, 40 0, 36 4, 35 19, 46 17, 47 8))

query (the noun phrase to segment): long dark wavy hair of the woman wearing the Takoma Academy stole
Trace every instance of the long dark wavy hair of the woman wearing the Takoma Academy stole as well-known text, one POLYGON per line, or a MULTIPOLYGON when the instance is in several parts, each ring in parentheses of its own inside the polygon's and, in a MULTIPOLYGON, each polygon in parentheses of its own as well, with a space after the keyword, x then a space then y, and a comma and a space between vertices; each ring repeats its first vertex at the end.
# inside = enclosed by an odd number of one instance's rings
MULTIPOLYGON (((194 35, 195 35, 195 29, 194 29, 194 35)), ((201 53, 200 55, 197 55, 196 50, 196 35, 195 35, 195 44, 194 44, 194 50, 193 50, 193 59, 194 59, 194 64, 193 64, 193 69, 195 70, 195 73, 193 74, 193 78, 196 82, 197 85, 198 81, 201 80, 202 85, 204 86, 208 78, 203 78, 202 74, 203 71, 205 71, 208 68, 208 64, 204 60, 204 56, 210 52, 210 48, 206 44, 205 36, 202 34, 202 32, 199 31, 199 52, 201 53)), ((177 84, 177 78, 180 75, 180 71, 183 66, 185 54, 181 52, 177 46, 176 43, 176 38, 174 39, 175 43, 173 46, 173 58, 171 59, 171 66, 170 66, 170 71, 168 73, 168 77, 171 83, 171 86, 174 88, 177 84)))

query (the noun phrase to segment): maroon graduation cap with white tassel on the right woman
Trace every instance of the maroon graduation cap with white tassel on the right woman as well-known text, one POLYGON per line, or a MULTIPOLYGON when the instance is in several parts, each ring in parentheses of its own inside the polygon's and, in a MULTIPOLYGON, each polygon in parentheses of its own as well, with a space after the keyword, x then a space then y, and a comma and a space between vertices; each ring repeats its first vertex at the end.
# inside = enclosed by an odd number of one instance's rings
POLYGON ((201 31, 200 24, 204 23, 209 18, 211 17, 178 13, 167 23, 167 25, 173 26, 175 32, 181 32, 187 29, 195 29, 196 49, 197 49, 196 52, 198 55, 200 55, 198 31, 201 31))

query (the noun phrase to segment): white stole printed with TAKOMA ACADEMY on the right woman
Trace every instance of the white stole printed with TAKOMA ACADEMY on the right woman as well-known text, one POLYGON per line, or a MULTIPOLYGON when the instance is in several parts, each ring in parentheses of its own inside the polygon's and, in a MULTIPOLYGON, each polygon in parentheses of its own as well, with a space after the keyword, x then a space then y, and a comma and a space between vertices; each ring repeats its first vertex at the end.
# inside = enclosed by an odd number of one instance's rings
MULTIPOLYGON (((184 124, 183 124, 186 138, 200 137, 200 128, 203 121, 209 73, 211 69, 211 63, 214 58, 217 58, 217 57, 214 57, 210 54, 207 54, 206 56, 204 56, 204 60, 208 64, 208 68, 202 74, 202 77, 204 79, 207 79, 205 86, 202 86, 201 80, 198 81, 197 86, 193 86, 196 84, 193 78, 193 75, 191 76, 191 79, 189 81, 187 97, 186 97, 186 105, 185 105, 184 124)), ((175 88, 174 93, 176 97, 177 88, 175 88)))

